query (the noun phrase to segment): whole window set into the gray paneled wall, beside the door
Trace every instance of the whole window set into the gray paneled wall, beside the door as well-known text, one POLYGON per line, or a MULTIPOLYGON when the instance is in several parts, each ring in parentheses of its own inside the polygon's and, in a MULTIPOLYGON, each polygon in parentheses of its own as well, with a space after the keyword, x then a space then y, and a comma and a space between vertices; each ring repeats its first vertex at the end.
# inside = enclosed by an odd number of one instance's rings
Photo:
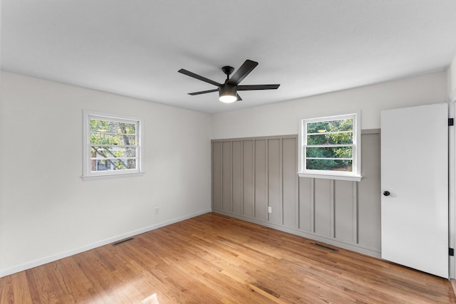
POLYGON ((301 119, 299 176, 360 181, 360 121, 359 112, 301 119))

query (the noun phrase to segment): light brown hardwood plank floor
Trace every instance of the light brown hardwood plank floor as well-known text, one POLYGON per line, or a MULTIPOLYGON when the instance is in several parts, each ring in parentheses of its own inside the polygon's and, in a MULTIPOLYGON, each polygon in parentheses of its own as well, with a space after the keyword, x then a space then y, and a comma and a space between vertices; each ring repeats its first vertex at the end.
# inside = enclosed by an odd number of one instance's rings
POLYGON ((0 303, 456 303, 450 281, 217 214, 0 278, 0 303))

